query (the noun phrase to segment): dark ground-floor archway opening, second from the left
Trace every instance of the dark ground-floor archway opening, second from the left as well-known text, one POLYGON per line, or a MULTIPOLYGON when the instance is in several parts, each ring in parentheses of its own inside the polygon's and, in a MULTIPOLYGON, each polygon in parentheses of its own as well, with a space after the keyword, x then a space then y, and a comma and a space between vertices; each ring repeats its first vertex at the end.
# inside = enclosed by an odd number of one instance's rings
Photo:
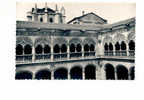
POLYGON ((39 72, 36 73, 35 79, 51 79, 51 72, 49 70, 40 70, 39 72))

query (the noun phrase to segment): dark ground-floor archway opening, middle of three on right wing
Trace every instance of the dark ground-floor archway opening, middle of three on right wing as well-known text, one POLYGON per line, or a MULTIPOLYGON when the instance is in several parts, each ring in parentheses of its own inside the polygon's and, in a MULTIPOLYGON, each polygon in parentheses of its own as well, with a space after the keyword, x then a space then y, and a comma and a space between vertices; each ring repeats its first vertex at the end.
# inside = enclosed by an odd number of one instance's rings
POLYGON ((128 80, 128 70, 125 66, 119 65, 116 67, 118 80, 128 80))

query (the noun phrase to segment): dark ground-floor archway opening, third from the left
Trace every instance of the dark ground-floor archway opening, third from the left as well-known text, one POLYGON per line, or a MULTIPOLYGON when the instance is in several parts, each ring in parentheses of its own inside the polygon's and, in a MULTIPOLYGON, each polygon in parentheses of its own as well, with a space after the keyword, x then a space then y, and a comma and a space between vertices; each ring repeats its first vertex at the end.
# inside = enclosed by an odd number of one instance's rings
POLYGON ((65 68, 59 68, 54 72, 55 79, 68 79, 68 71, 65 68))

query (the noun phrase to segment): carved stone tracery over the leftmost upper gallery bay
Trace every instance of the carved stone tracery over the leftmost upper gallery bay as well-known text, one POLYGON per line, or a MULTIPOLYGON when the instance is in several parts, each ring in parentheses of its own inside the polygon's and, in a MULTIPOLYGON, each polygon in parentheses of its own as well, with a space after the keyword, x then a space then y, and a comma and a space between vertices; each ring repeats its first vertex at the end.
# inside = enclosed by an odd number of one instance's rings
POLYGON ((21 45, 26 45, 29 44, 31 46, 33 46, 33 42, 31 40, 31 38, 29 37, 17 37, 16 38, 16 45, 21 44, 21 45))

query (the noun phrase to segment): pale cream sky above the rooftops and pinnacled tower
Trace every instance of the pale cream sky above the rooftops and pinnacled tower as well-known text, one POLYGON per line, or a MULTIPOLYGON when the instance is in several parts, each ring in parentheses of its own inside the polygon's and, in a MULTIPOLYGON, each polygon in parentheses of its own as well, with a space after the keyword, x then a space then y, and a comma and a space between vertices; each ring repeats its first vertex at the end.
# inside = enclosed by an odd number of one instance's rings
MULTIPOLYGON (((27 21, 26 13, 31 11, 37 4, 38 8, 45 7, 45 2, 17 2, 16 3, 16 20, 27 21)), ((114 23, 121 20, 136 17, 135 3, 74 3, 74 2, 47 2, 47 6, 55 10, 57 4, 60 10, 63 6, 66 10, 66 22, 74 17, 93 12, 98 16, 108 20, 108 23, 114 23)))

